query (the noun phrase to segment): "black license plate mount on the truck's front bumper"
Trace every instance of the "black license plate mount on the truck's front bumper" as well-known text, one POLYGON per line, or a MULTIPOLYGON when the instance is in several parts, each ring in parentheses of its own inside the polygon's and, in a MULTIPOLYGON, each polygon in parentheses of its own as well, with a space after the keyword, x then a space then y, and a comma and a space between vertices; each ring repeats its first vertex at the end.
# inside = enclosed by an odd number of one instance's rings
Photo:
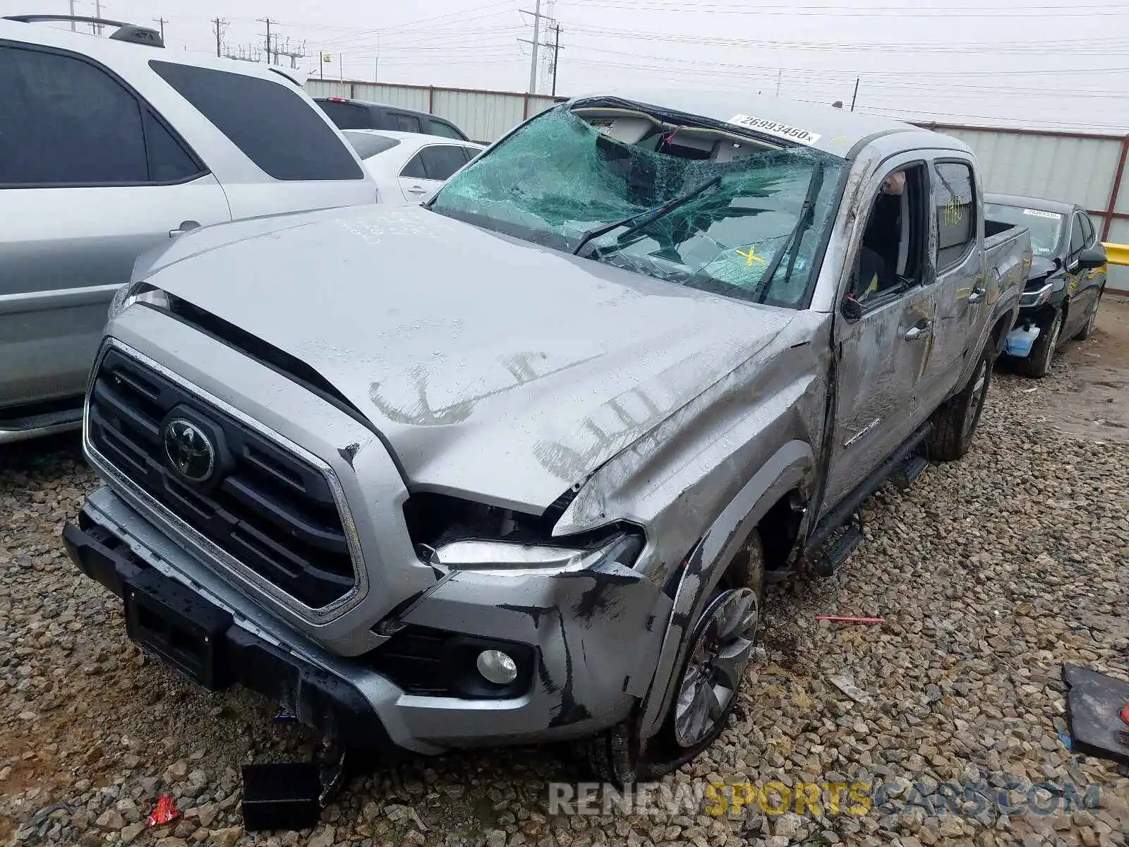
POLYGON ((125 580, 125 630, 148 653, 209 691, 224 688, 231 614, 154 568, 125 580))

